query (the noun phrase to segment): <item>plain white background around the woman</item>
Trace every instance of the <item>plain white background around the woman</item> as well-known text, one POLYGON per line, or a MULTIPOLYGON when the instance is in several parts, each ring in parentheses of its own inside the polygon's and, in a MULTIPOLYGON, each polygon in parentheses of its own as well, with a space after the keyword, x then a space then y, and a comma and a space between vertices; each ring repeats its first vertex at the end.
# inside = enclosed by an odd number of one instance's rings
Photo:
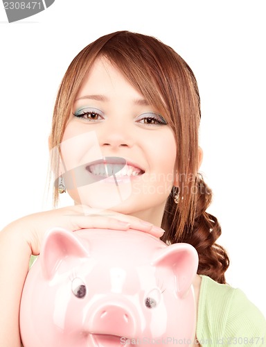
POLYGON ((45 196, 53 103, 71 60, 118 30, 154 35, 193 69, 202 98, 209 212, 231 257, 227 281, 266 316, 265 1, 55 0, 8 24, 0 5, 0 229, 51 209, 45 196), (157 4, 158 3, 158 4, 157 4))

